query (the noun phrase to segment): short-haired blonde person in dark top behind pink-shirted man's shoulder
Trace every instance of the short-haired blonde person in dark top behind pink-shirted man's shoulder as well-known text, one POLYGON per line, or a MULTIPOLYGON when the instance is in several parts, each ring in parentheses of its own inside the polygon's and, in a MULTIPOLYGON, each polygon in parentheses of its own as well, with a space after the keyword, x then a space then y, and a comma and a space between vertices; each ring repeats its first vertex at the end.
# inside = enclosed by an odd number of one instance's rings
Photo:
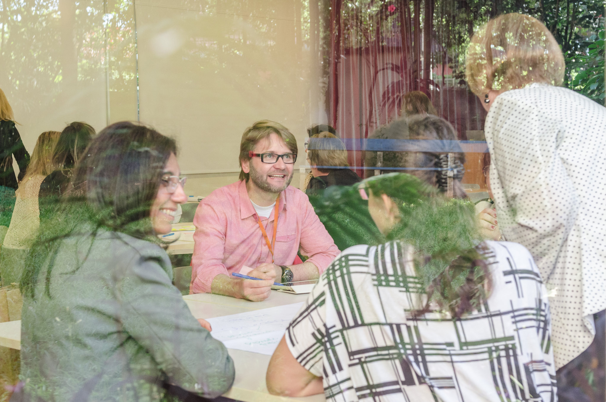
POLYGON ((337 136, 322 132, 309 139, 307 159, 311 166, 310 179, 305 193, 318 193, 330 186, 351 186, 361 178, 348 169, 347 150, 337 136))

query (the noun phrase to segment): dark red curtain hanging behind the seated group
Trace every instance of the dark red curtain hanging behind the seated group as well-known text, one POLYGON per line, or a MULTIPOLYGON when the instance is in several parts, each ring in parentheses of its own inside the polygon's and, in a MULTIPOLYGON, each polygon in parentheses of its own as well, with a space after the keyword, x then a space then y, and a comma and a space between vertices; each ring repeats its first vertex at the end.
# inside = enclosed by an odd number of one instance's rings
MULTIPOLYGON (((452 61, 435 39, 434 0, 358 4, 330 1, 328 119, 339 135, 367 138, 397 118, 402 97, 415 90, 430 97, 459 139, 467 139, 467 130, 482 130, 478 99, 464 81, 444 79, 452 61), (441 82, 433 80, 436 75, 441 82)), ((362 167, 363 150, 350 150, 349 159, 350 166, 362 167)))

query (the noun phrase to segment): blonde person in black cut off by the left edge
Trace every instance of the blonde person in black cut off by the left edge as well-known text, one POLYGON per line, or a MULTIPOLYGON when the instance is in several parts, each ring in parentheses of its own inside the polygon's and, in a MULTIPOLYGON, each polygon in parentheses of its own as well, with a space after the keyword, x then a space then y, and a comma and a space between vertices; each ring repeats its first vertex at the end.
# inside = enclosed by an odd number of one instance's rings
POLYGON ((19 181, 21 181, 30 163, 30 154, 23 146, 21 136, 15 127, 13 109, 0 89, 0 186, 16 190, 18 181, 13 170, 13 155, 19 165, 19 181))

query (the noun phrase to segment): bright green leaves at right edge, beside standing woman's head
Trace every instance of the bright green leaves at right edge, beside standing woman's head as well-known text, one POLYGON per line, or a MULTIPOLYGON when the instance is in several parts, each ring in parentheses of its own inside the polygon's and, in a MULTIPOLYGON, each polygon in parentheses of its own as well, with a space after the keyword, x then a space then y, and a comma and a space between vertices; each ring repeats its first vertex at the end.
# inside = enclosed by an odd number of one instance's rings
POLYGON ((604 36, 602 27, 596 35, 582 42, 585 52, 568 57, 566 67, 572 78, 571 87, 601 104, 604 103, 604 36))

